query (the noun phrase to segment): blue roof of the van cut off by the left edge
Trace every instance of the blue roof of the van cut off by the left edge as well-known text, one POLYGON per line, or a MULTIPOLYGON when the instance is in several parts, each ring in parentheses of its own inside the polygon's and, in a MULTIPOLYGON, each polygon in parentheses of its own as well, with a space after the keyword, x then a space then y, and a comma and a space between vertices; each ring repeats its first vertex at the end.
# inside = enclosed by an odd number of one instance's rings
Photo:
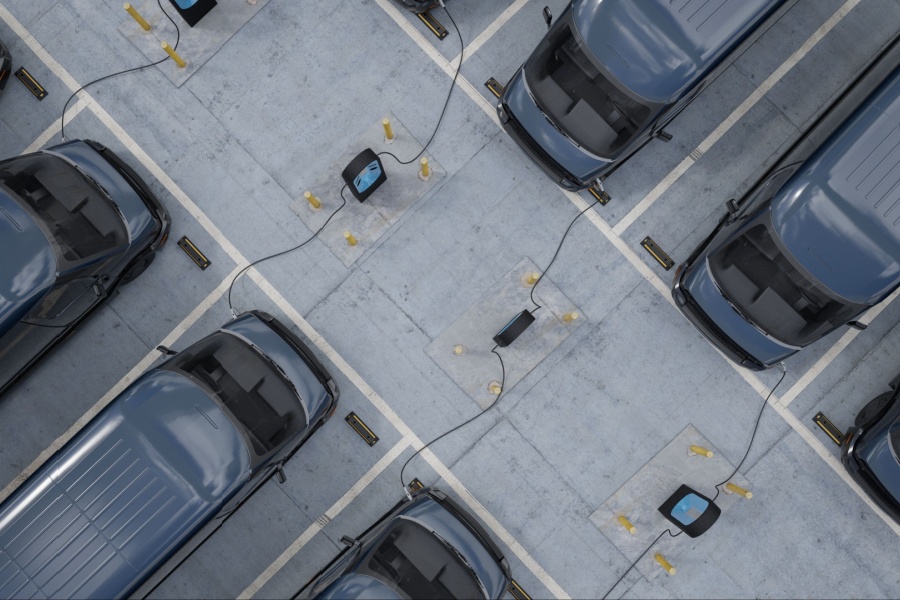
POLYGON ((31 216, 0 189, 0 335, 56 280, 56 255, 31 216))

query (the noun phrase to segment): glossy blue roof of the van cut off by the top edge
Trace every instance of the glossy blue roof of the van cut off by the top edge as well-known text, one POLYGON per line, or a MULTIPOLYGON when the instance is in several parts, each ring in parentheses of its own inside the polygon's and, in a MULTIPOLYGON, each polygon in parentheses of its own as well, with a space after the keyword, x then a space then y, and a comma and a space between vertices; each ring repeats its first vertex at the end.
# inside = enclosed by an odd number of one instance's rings
POLYGON ((574 0, 594 55, 641 97, 680 97, 783 0, 574 0))

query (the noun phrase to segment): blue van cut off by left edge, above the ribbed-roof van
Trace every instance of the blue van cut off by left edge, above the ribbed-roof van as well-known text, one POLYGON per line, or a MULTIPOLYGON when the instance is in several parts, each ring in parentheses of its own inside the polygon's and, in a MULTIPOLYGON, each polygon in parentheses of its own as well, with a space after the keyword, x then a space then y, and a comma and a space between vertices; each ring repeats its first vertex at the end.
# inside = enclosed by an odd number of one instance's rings
POLYGON ((147 184, 98 142, 0 161, 0 394, 143 273, 170 227, 147 184))

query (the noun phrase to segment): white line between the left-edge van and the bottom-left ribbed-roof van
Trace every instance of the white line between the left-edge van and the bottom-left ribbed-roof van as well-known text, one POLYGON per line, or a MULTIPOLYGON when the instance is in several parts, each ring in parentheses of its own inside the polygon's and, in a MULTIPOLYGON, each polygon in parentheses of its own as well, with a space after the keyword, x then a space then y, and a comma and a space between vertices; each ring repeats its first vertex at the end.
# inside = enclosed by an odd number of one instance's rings
MULTIPOLYGON (((184 333, 188 329, 190 329, 191 326, 196 323, 197 320, 200 319, 200 317, 202 317, 203 314, 207 310, 209 310, 213 304, 218 302, 218 300, 225 294, 225 292, 228 290, 229 284, 231 283, 231 279, 235 275, 237 275, 239 269, 239 267, 235 267, 234 271, 229 273, 228 277, 226 277, 222 281, 222 283, 220 283, 216 287, 216 289, 210 292, 209 295, 203 299, 203 302, 197 305, 197 307, 194 308, 194 310, 192 310, 190 314, 188 314, 188 316, 182 319, 182 321, 175 326, 175 329, 170 331, 169 334, 165 338, 163 338, 157 345, 170 346, 178 341, 178 339, 182 335, 184 335, 184 333)), ((142 358, 138 364, 136 364, 130 371, 128 371, 125 377, 120 379, 112 387, 112 389, 106 392, 102 398, 100 398, 91 408, 88 409, 86 413, 84 413, 77 421, 75 421, 75 423, 73 423, 65 433, 53 440, 53 443, 51 443, 43 452, 38 454, 37 458, 31 461, 30 465, 25 467, 25 470, 19 473, 15 477, 15 479, 13 479, 5 488, 3 488, 3 491, 0 492, 0 502, 6 500, 6 498, 8 498, 10 494, 16 491, 16 488, 22 485, 22 483, 26 479, 31 477, 31 475, 47 461, 47 459, 53 456, 53 454, 57 450, 62 448, 66 442, 72 439, 72 437, 74 437, 76 433, 78 433, 85 425, 87 425, 88 421, 93 419, 101 410, 106 408, 106 405, 112 402, 113 398, 122 393, 122 390, 131 385, 133 381, 140 377, 141 374, 143 374, 143 372, 146 371, 150 367, 150 365, 152 365, 156 361, 157 358, 159 358, 159 352, 157 352, 156 349, 148 352, 147 355, 144 356, 144 358, 142 358)))

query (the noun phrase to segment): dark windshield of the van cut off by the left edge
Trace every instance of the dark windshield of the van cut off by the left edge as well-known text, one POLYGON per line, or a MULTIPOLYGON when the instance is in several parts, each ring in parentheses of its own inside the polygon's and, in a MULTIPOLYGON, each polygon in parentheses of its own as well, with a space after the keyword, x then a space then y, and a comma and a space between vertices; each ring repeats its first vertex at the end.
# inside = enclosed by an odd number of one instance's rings
POLYGON ((61 258, 78 262, 128 240, 118 210, 100 188, 56 156, 39 154, 0 165, 0 184, 41 224, 61 258))

